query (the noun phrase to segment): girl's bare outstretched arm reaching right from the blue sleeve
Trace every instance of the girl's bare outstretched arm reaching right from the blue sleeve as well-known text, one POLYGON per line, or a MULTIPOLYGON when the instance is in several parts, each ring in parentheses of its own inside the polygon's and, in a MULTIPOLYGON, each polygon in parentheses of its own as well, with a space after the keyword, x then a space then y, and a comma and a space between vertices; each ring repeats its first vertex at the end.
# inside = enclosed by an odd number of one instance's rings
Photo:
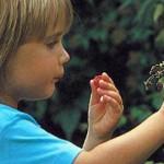
POLYGON ((164 143, 164 104, 140 126, 82 152, 74 164, 143 164, 164 143))

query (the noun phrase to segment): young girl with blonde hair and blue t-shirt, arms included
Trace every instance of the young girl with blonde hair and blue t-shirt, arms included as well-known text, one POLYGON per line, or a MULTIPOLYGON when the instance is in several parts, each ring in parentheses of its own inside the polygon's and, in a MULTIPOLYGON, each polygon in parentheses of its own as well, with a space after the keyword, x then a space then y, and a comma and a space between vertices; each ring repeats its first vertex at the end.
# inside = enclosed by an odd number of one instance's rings
POLYGON ((0 163, 140 164, 164 142, 164 106, 132 131, 110 139, 122 101, 112 79, 91 80, 83 149, 61 140, 16 109, 22 99, 52 95, 70 57, 62 37, 72 20, 69 0, 0 0, 0 163))

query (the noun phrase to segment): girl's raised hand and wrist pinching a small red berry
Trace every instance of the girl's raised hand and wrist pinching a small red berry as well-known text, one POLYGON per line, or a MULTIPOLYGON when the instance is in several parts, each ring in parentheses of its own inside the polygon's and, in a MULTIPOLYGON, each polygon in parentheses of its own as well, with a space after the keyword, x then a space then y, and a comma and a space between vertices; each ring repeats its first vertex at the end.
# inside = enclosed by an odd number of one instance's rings
POLYGON ((89 151, 110 139, 122 114, 122 99, 113 80, 102 73, 91 80, 89 129, 83 148, 89 151))

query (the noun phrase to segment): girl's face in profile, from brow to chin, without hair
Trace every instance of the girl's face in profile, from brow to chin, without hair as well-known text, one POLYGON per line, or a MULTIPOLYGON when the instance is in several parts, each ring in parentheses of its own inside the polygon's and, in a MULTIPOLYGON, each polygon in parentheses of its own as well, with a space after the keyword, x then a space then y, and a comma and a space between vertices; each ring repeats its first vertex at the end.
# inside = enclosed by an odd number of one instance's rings
POLYGON ((7 84, 14 98, 43 99, 52 95, 55 83, 63 77, 63 65, 70 59, 61 43, 62 35, 57 33, 20 46, 10 60, 7 84))

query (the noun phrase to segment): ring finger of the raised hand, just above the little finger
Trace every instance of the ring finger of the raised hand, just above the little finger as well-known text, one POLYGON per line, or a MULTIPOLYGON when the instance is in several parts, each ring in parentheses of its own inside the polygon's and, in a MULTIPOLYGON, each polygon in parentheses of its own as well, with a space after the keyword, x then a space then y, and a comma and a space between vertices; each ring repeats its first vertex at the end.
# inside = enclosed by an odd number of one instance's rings
POLYGON ((116 99, 119 104, 122 104, 121 96, 117 92, 108 91, 108 90, 102 90, 98 87, 97 93, 99 94, 99 96, 107 95, 107 96, 116 99))

